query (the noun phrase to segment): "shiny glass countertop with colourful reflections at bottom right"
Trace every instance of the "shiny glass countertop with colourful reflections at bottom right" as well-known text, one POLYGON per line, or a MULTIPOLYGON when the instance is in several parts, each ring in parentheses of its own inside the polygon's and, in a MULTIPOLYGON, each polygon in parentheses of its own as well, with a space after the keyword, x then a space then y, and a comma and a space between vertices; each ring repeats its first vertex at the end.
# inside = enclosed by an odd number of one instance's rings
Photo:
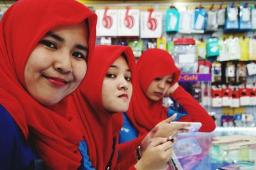
MULTIPOLYGON (((174 167, 179 170, 211 170, 231 164, 256 164, 256 145, 248 145, 236 150, 228 150, 228 144, 214 145, 214 137, 230 135, 252 136, 256 138, 256 127, 217 128, 214 132, 179 134, 173 144, 174 167), (244 163, 245 162, 245 163, 244 163)), ((241 139, 242 140, 242 139, 241 139)), ((255 170, 256 166, 246 168, 255 170)))

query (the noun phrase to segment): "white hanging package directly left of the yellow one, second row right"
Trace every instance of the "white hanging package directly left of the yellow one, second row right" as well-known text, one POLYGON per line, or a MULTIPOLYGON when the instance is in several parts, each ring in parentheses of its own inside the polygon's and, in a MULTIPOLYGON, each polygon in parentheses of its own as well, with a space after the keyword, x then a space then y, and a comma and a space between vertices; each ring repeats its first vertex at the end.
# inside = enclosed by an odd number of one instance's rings
POLYGON ((239 39, 235 38, 228 38, 227 40, 227 49, 228 49, 228 57, 229 60, 238 60, 240 59, 240 46, 239 46, 239 39))

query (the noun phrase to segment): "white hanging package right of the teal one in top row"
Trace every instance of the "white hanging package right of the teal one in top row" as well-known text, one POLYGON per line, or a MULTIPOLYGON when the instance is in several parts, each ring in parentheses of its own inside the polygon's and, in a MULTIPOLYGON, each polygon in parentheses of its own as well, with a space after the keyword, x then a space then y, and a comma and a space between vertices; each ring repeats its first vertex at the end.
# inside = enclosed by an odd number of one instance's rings
POLYGON ((192 22, 193 17, 194 17, 194 11, 192 10, 180 11, 180 24, 179 24, 180 33, 187 33, 187 34, 191 33, 191 25, 193 24, 192 22))

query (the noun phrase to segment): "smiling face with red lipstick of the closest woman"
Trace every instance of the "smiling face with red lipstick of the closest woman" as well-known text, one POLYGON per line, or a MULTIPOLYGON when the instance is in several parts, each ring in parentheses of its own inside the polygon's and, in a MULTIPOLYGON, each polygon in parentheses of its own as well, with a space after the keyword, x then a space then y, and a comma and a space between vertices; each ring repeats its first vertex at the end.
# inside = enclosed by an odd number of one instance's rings
POLYGON ((84 22, 60 25, 40 39, 25 67, 26 89, 44 106, 72 93, 86 73, 88 31, 84 22))

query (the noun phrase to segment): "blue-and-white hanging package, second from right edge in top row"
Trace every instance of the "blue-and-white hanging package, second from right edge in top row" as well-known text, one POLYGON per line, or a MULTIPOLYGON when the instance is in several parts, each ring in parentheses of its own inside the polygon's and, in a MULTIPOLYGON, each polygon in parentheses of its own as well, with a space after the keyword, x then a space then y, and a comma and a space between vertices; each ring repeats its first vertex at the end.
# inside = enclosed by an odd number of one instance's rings
POLYGON ((239 29, 248 30, 251 28, 252 28, 252 22, 251 22, 250 6, 248 6, 248 3, 244 3, 242 4, 242 6, 240 6, 239 29))

